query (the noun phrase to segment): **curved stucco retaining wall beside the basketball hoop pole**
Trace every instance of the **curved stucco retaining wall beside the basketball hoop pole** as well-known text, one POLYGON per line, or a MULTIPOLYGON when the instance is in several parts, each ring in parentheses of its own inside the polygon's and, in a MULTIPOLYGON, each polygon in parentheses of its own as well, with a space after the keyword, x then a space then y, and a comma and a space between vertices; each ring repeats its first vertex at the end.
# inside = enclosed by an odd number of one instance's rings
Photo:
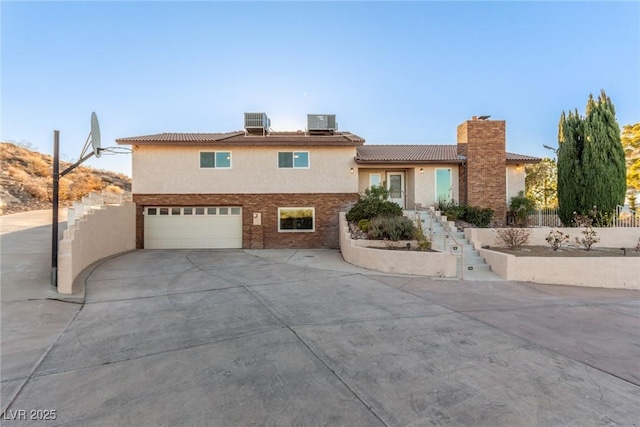
POLYGON ((58 247, 58 292, 72 294, 75 278, 89 265, 136 247, 135 204, 93 209, 73 225, 58 247))

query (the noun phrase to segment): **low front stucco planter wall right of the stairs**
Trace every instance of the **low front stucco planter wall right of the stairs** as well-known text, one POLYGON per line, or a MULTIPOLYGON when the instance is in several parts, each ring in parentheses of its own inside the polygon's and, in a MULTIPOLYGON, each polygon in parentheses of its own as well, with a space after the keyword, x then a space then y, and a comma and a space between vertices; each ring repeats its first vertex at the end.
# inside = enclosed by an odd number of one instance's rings
POLYGON ((635 257, 516 257, 486 249, 479 252, 491 270, 507 280, 640 289, 640 262, 635 257))

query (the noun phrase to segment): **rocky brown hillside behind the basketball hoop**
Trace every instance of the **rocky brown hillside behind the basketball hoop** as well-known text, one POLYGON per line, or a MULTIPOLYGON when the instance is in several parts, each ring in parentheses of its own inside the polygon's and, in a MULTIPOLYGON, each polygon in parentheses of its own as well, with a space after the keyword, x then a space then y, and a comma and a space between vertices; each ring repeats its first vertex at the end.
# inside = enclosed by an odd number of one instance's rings
MULTIPOLYGON (((0 215, 51 209, 53 157, 0 142, 0 215)), ((60 170, 71 163, 60 162, 60 170)), ((126 175, 78 166, 60 179, 60 206, 69 206, 91 191, 122 194, 131 191, 126 175)))

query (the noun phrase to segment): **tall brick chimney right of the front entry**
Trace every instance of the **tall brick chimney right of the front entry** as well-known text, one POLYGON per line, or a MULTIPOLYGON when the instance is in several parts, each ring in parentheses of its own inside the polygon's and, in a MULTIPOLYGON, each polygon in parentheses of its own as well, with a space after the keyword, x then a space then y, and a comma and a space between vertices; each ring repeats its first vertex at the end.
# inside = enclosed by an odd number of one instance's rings
POLYGON ((493 209, 493 219, 505 223, 507 214, 506 123, 471 120, 458 126, 458 154, 466 156, 460 168, 460 204, 493 209))

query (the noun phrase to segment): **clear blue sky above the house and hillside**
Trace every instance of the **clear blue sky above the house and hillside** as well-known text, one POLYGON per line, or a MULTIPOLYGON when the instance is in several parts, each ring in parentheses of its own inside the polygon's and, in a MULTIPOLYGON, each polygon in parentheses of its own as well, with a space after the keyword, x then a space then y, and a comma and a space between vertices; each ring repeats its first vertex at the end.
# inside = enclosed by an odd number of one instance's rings
MULTIPOLYGON (((3 141, 76 159, 161 132, 336 114, 369 144, 455 144, 473 115, 551 156, 560 113, 605 89, 640 121, 639 2, 1 2, 3 141)), ((130 174, 129 155, 90 165, 130 174)))

